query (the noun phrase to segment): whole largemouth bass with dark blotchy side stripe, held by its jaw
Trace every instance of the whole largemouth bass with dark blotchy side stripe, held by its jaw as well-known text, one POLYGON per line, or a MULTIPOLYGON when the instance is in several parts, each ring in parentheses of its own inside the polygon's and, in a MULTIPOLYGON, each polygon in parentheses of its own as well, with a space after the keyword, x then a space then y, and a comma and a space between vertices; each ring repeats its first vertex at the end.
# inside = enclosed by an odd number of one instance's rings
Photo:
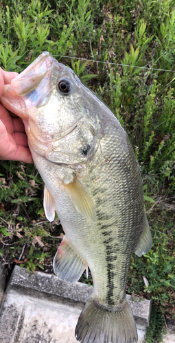
POLYGON ((1 103, 23 119, 45 182, 44 209, 65 230, 54 272, 75 283, 89 266, 94 290, 75 337, 82 343, 134 343, 125 285, 132 252, 152 246, 135 152, 124 128, 77 75, 43 52, 1 103))

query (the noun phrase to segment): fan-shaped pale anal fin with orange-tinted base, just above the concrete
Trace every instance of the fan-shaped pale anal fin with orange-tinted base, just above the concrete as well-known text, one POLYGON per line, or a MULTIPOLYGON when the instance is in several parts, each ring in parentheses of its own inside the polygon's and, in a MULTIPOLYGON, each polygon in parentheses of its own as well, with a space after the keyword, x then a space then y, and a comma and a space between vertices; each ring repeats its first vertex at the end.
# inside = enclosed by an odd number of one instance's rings
POLYGON ((75 283, 80 279, 87 263, 65 236, 54 257, 54 273, 60 280, 75 283))

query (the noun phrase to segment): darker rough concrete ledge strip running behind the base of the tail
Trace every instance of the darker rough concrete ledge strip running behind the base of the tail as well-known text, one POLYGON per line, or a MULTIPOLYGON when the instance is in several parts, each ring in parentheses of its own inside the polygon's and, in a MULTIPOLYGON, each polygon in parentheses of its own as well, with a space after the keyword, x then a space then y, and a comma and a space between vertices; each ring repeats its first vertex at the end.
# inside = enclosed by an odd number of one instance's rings
MULTIPOLYGON (((75 284, 61 281, 54 274, 43 272, 29 273, 25 268, 15 266, 8 289, 36 298, 49 298, 59 303, 75 304, 84 307, 86 300, 93 292, 93 287, 77 282, 75 284)), ((127 295, 135 321, 141 329, 149 326, 152 300, 141 301, 139 297, 132 301, 127 295)))

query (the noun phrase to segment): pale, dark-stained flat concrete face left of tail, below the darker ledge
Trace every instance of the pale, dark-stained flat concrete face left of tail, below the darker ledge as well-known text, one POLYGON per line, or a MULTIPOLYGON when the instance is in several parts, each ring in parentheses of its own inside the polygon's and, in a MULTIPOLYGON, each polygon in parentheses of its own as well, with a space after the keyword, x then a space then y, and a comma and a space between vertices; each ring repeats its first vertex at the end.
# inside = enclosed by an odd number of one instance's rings
POLYGON ((0 318, 3 343, 75 343, 81 309, 10 290, 0 318))

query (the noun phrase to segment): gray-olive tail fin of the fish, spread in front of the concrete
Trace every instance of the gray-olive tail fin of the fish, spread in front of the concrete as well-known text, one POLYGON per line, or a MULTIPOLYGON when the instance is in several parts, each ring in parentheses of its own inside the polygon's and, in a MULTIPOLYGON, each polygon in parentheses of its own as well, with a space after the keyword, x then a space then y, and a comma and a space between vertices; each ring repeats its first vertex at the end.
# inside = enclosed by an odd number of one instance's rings
POLYGON ((128 300, 122 311, 107 311, 90 298, 75 328, 81 343, 137 343, 137 329, 128 300))

